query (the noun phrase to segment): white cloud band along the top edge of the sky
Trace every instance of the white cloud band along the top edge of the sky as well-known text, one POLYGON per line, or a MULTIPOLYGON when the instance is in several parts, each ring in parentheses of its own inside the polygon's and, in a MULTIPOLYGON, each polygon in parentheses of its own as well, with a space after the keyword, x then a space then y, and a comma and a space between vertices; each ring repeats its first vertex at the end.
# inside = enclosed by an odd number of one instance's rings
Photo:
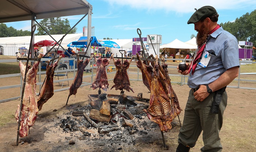
POLYGON ((129 6, 142 10, 165 10, 166 12, 190 13, 194 8, 211 5, 215 9, 255 8, 256 0, 104 0, 113 7, 129 6))

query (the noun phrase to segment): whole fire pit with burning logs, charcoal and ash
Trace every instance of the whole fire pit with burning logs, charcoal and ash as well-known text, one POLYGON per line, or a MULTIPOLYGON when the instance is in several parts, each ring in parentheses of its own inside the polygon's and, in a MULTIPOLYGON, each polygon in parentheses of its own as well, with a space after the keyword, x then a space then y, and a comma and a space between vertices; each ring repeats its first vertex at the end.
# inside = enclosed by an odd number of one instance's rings
MULTIPOLYGON (((93 144, 95 151, 97 149, 95 147, 101 149, 100 146, 103 145, 109 145, 109 149, 104 148, 106 151, 121 150, 122 147, 129 147, 128 149, 131 151, 136 151, 134 146, 137 143, 148 143, 149 141, 157 142, 159 147, 163 147, 158 124, 150 121, 146 113, 143 112, 143 109, 148 108, 149 99, 105 93, 88 96, 91 100, 90 104, 64 113, 67 117, 56 124, 67 135, 68 133, 70 136, 72 135, 72 138, 66 138, 69 140, 69 144, 72 144, 72 140, 75 138, 85 140, 86 144, 93 144), (109 116, 100 112, 102 103, 104 104, 106 101, 110 105, 109 116)), ((173 128, 178 125, 178 121, 172 122, 173 128)), ((176 138, 165 137, 165 139, 176 138)))

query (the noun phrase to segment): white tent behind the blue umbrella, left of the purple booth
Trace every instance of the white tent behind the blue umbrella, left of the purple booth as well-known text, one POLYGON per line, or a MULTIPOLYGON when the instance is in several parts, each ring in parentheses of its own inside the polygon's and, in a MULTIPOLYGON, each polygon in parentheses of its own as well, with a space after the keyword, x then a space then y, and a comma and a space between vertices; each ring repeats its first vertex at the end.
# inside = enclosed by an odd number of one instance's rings
MULTIPOLYGON (((99 41, 108 41, 108 40, 99 40, 99 41)), ((116 54, 118 57, 121 57, 121 53, 119 52, 119 50, 125 50, 125 51, 132 50, 132 39, 111 39, 110 41, 114 41, 120 46, 120 48, 111 48, 110 52, 114 54, 114 57, 116 57, 116 54)))

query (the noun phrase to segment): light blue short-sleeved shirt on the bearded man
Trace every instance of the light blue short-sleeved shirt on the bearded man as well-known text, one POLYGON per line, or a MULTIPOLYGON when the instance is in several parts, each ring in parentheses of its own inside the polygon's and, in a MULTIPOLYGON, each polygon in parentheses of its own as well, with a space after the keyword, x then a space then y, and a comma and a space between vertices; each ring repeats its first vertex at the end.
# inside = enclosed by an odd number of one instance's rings
MULTIPOLYGON (((222 27, 214 31, 207 40, 204 52, 211 54, 207 67, 197 64, 194 74, 188 77, 189 88, 199 88, 217 80, 227 69, 239 66, 238 43, 236 37, 222 27)), ((202 53, 202 56, 204 54, 202 53)))

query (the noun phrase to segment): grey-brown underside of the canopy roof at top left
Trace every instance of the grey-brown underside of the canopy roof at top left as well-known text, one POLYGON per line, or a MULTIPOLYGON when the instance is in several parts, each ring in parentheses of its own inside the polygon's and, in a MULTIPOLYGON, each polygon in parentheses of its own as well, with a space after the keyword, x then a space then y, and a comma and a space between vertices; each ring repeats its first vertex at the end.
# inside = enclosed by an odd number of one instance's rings
POLYGON ((0 23, 88 14, 86 0, 1 0, 0 23))

